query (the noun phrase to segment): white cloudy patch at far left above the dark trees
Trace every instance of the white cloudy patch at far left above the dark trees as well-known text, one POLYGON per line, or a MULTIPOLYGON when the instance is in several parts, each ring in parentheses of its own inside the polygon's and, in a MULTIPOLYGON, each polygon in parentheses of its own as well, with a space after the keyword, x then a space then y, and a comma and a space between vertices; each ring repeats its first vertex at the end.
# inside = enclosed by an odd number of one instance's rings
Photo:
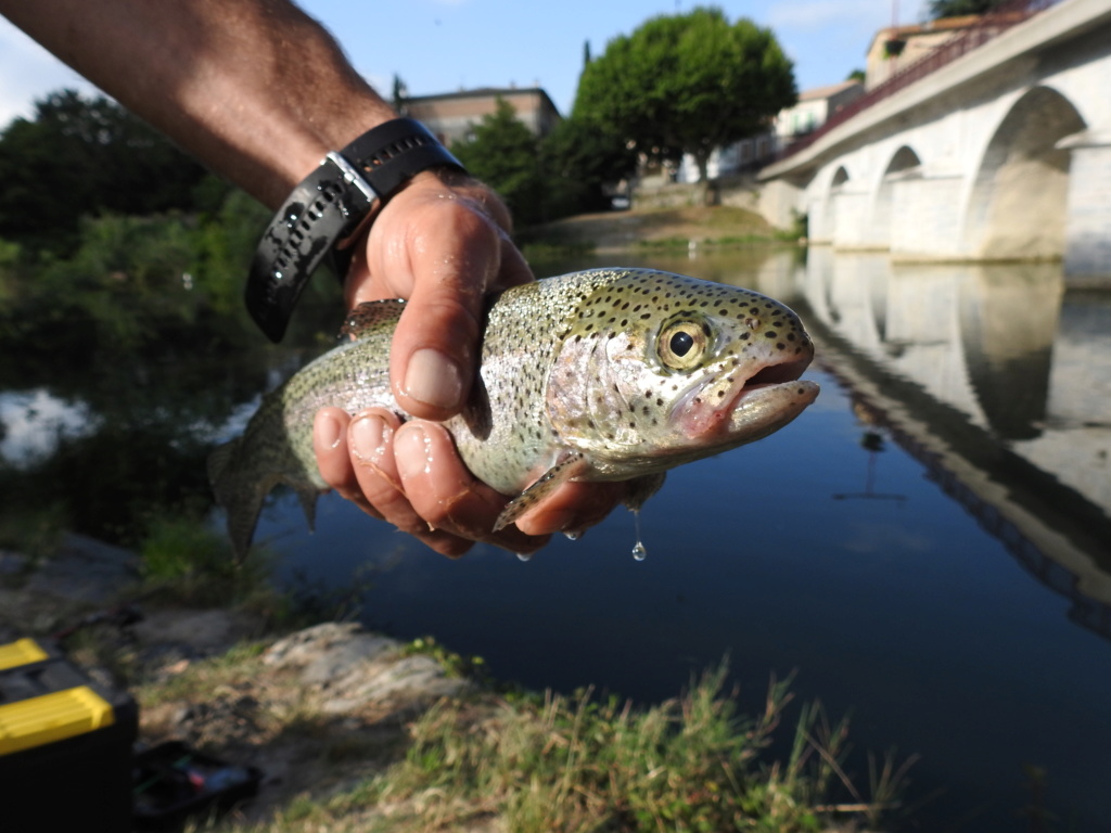
POLYGON ((29 118, 36 99, 63 87, 86 93, 96 90, 77 72, 0 18, 0 130, 16 117, 29 118))

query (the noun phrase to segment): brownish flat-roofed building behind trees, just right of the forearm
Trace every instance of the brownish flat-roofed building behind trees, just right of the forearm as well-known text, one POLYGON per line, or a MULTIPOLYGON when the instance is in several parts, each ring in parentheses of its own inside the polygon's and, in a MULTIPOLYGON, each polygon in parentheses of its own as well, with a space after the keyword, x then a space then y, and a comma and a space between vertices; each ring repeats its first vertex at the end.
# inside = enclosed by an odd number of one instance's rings
POLYGON ((509 102, 517 118, 536 136, 548 136, 562 119, 548 93, 539 87, 486 87, 440 96, 407 96, 401 100, 401 110, 450 148, 453 142, 471 138, 474 126, 484 116, 493 116, 499 99, 509 102))

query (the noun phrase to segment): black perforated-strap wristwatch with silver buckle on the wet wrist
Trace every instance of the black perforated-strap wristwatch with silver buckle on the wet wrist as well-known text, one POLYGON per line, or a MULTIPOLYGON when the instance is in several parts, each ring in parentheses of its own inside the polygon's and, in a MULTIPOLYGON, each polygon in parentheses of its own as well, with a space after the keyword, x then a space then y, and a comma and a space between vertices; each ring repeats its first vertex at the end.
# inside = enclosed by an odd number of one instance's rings
POLYGON ((247 309, 271 341, 281 341, 309 278, 333 255, 342 280, 344 245, 393 194, 429 168, 464 171, 428 129, 393 119, 331 151, 286 199, 262 234, 247 279, 247 309))

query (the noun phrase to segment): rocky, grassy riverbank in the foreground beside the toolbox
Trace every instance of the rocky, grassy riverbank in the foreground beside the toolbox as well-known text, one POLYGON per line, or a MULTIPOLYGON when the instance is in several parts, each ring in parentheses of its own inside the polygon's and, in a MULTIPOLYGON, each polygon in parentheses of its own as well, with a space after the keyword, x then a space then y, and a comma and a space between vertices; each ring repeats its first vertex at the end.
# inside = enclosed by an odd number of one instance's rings
POLYGON ((54 634, 93 680, 132 693, 143 745, 180 740, 264 773, 218 830, 860 830, 895 786, 853 795, 835 767, 843 726, 810 707, 798 731, 781 726, 782 682, 758 715, 722 696, 724 669, 633 709, 517 690, 431 640, 290 631, 261 591, 188 606, 144 583, 136 553, 80 536, 37 561, 4 552, 0 572, 0 641, 54 634), (795 744, 772 762, 777 732, 795 744))

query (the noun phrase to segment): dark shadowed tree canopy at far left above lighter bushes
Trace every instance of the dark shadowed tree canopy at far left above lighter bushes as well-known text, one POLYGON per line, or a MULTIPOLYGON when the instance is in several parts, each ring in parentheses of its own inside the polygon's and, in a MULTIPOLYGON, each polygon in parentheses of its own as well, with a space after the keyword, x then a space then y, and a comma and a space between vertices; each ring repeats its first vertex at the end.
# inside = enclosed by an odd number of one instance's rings
POLYGON ((98 96, 61 90, 0 133, 0 238, 64 253, 82 217, 190 209, 204 169, 98 96))

